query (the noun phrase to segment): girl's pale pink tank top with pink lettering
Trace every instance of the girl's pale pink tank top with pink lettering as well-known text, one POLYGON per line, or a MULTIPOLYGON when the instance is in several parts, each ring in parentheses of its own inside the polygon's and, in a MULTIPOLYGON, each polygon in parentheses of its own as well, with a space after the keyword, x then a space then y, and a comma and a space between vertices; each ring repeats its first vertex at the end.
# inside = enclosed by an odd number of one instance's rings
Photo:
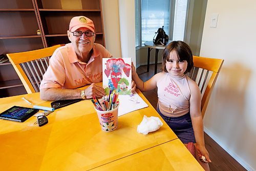
POLYGON ((180 117, 189 111, 190 88, 187 75, 174 78, 168 72, 161 72, 157 82, 158 107, 168 117, 180 117))

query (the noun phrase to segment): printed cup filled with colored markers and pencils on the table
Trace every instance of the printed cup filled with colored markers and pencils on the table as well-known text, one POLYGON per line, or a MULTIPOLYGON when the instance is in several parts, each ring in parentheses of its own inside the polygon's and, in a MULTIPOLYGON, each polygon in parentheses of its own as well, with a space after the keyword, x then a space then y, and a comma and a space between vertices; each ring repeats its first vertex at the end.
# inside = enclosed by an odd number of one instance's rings
POLYGON ((110 91, 110 94, 102 99, 93 97, 92 103, 97 112, 102 130, 106 132, 115 130, 118 121, 118 93, 110 91))

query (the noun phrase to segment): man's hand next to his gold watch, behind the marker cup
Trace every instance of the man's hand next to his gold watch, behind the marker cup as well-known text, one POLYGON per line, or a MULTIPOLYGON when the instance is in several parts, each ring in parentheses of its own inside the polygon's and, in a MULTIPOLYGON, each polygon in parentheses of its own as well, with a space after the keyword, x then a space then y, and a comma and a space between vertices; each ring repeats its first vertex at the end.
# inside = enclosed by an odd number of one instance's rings
POLYGON ((93 96, 96 96, 97 98, 101 98, 105 95, 104 88, 95 84, 95 83, 92 83, 84 91, 86 93, 86 98, 87 99, 93 98, 93 96))

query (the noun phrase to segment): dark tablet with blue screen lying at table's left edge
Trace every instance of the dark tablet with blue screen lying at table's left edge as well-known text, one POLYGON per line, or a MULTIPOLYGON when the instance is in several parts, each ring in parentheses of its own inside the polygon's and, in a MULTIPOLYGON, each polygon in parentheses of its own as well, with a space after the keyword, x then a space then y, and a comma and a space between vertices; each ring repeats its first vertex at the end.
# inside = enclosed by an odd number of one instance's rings
POLYGON ((37 113, 38 111, 38 109, 33 109, 29 107, 13 106, 2 112, 0 114, 0 118, 10 121, 24 122, 33 115, 35 115, 35 113, 37 113))

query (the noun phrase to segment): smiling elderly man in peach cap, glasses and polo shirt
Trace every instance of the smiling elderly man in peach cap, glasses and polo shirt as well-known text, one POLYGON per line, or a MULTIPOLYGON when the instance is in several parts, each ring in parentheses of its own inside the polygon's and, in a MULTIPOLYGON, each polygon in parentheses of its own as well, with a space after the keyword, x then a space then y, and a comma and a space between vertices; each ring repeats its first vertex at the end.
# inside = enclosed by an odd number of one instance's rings
MULTIPOLYGON (((102 82, 102 58, 113 56, 102 45, 94 43, 95 27, 90 18, 73 17, 67 33, 71 43, 53 53, 40 84, 40 98, 55 101, 102 97, 103 87, 94 83, 102 82), (87 89, 76 89, 88 84, 91 85, 87 89)), ((133 82, 132 92, 135 87, 133 82)))

